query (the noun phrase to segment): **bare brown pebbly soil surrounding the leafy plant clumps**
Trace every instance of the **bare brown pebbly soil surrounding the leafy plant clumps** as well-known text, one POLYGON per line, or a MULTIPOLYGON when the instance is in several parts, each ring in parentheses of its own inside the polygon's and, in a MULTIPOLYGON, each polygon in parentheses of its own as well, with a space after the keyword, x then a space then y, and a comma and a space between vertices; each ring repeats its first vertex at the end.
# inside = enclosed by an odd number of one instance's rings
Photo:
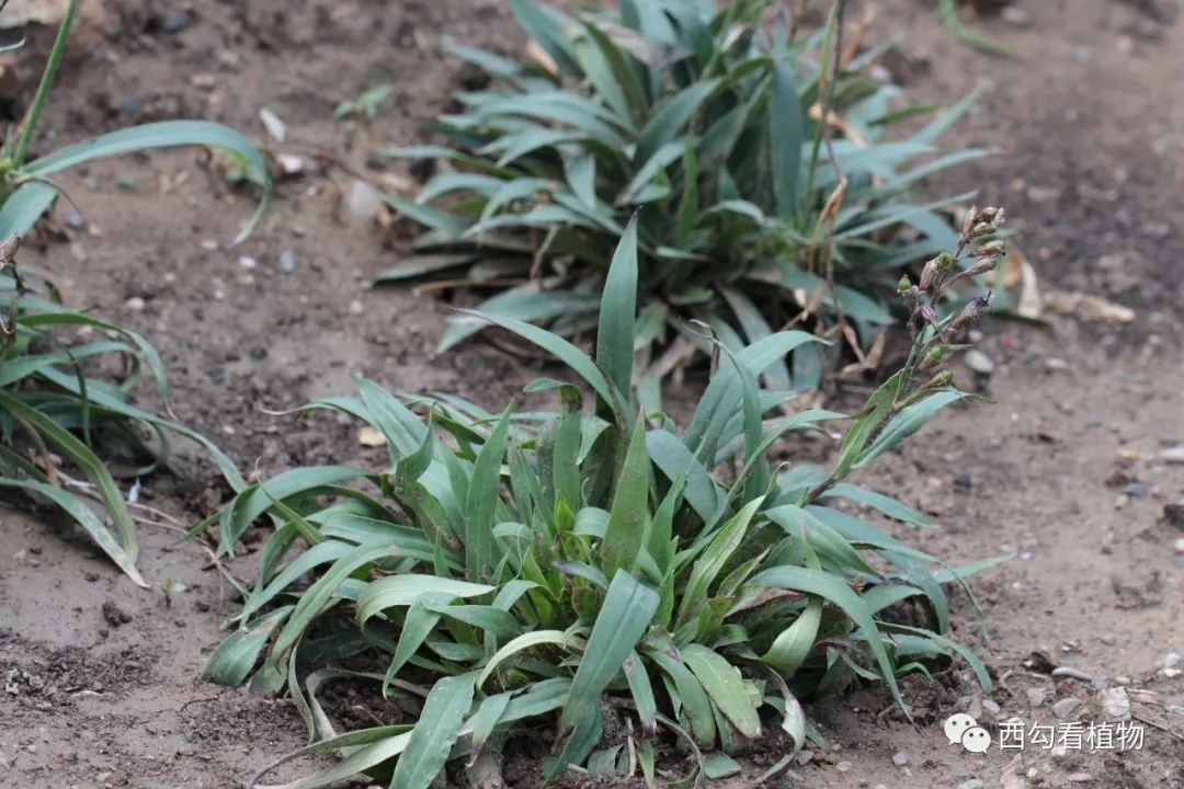
MULTIPOLYGON (((980 22, 1018 54, 993 59, 951 41, 926 2, 876 6, 874 37, 906 34, 889 65, 916 95, 950 101, 980 79, 996 84, 952 142, 998 154, 942 186, 982 188, 1006 206, 1045 290, 1103 296, 1138 317, 984 326, 996 403, 946 414, 864 479, 935 516, 939 530, 909 535, 925 550, 951 562, 1017 554, 974 584, 989 639, 965 602, 957 608, 955 636, 984 655, 993 694, 983 698, 961 670, 913 684, 918 729, 881 716, 887 700, 875 690, 813 704, 828 748, 776 783, 1184 787, 1184 677, 1164 672, 1165 657, 1184 652, 1184 554, 1173 550, 1184 529, 1163 516, 1184 500, 1184 465, 1164 460, 1184 441, 1184 22, 1172 24, 1166 2, 1019 0, 1008 19, 980 22), (1053 679, 1032 653, 1093 681, 1053 679), (966 707, 989 726, 1010 716, 1064 723, 1051 705, 1070 697, 1082 705, 1066 720, 1093 720, 1094 686, 1107 683, 1128 687, 1147 722, 1141 750, 972 755, 941 733, 941 720, 966 707), (1032 706, 1038 691, 1045 698, 1032 706)), ((77 32, 59 78, 50 111, 59 140, 208 117, 284 153, 323 156, 315 173, 279 185, 270 220, 242 248, 225 242, 249 194, 192 153, 76 170, 65 183, 86 227, 63 221, 28 245, 26 265, 51 272, 70 303, 161 349, 179 418, 242 467, 270 473, 365 450, 332 418, 264 407, 346 393, 359 374, 497 406, 534 376, 481 344, 432 360, 446 308, 369 289, 398 259, 400 228, 352 219, 340 198, 350 173, 414 187, 413 174, 373 154, 420 140, 419 121, 464 79, 435 53, 439 39, 519 46, 502 4, 116 0, 102 11, 77 32), (332 118, 339 101, 386 80, 392 111, 368 124, 332 118), (260 106, 288 123, 283 145, 264 134, 260 106)), ((49 35, 33 28, 31 51, 44 52, 49 35)), ((34 65, 18 62, 0 80, 8 121, 34 65)), ((147 481, 144 500, 184 523, 224 494, 197 453, 181 452, 170 471, 147 481)), ((142 569, 154 589, 140 591, 43 520, 0 509, 0 785, 232 787, 303 744, 284 703, 198 679, 234 610, 200 548, 146 526, 142 569), (170 604, 168 578, 187 587, 170 604)), ((249 574, 250 562, 236 569, 249 574)), ((774 749, 758 746, 753 772, 774 749)))

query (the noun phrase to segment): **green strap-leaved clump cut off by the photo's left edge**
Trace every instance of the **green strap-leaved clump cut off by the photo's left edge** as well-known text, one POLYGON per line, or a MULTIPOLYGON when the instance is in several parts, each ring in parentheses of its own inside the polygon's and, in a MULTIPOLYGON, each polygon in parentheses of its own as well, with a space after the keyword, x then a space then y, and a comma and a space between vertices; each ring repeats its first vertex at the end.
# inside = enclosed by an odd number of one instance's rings
MULTIPOLYGON (((139 477, 165 461, 167 434, 175 433, 202 444, 237 489, 244 485, 243 478, 202 436, 130 403, 129 396, 144 374, 155 380, 161 401, 167 402, 165 370, 156 351, 128 329, 63 306, 51 283, 18 267, 20 239, 60 193, 47 179, 94 159, 197 144, 233 153, 263 183, 266 168, 245 137, 204 121, 121 129, 28 161, 76 5, 71 1, 66 7, 33 103, 0 150, 0 486, 19 489, 60 507, 133 581, 146 586, 135 567, 134 519, 96 447, 120 450, 129 459, 128 474, 139 477), (32 283, 41 286, 41 293, 32 283), (104 364, 121 370, 117 382, 94 376, 104 364), (71 473, 84 479, 73 479, 71 473), (102 506, 112 528, 88 499, 102 506)), ((240 238, 265 208, 266 196, 240 238)))

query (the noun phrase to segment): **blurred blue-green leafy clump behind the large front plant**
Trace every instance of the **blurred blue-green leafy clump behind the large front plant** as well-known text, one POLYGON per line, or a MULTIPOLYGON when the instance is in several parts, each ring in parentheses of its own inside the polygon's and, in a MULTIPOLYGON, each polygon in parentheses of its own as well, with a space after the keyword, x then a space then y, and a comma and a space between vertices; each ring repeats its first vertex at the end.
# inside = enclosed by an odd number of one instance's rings
MULTIPOLYGON (((638 213, 641 369, 661 377, 712 353, 691 321, 732 351, 810 318, 866 344, 892 321, 901 272, 954 245, 948 201, 910 190, 984 154, 934 145, 974 95, 889 137, 932 108, 894 109, 880 50, 836 52, 837 13, 791 35, 766 33, 770 0, 625 0, 597 17, 510 6, 534 60, 451 47, 489 86, 431 125, 446 145, 391 151, 442 172, 414 201, 387 196, 427 232, 384 280, 463 270, 462 283, 501 291, 482 312, 573 337, 596 328, 605 261, 638 213)), ((440 350, 484 325, 456 318, 440 350)), ((821 370, 809 344, 770 375, 812 386, 821 370)))

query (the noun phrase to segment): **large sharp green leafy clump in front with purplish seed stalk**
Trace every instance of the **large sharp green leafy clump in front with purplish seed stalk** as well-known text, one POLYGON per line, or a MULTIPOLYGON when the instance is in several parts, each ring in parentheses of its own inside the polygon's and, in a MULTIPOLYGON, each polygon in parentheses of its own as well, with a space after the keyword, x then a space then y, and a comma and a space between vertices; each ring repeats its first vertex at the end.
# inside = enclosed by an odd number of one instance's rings
POLYGON ((636 224, 605 280, 594 358, 528 323, 480 316, 566 366, 574 382, 527 387, 558 394, 558 413, 511 403, 491 414, 369 381, 356 397, 314 403, 380 431, 390 466, 290 470, 244 489, 214 519, 223 552, 260 516, 276 529, 206 677, 287 691, 313 741, 256 781, 340 751, 334 767, 285 787, 363 771, 425 789, 450 759, 488 770, 483 759, 523 735, 553 743, 548 777, 636 763, 652 784, 659 737, 682 742, 693 772, 718 777, 739 769, 727 755, 770 720, 800 749, 798 700, 860 679, 883 681, 906 709, 901 674, 960 655, 990 687, 978 659, 944 635, 942 584, 998 560, 946 567, 843 504, 933 525, 847 478, 966 396, 939 367, 985 299, 944 319, 932 304, 970 276, 955 258, 971 273, 993 265, 999 244, 966 251, 998 220, 972 212, 957 256, 934 258, 915 286, 899 284, 913 353, 851 419, 829 471, 768 458, 787 433, 845 419, 770 416, 794 393, 758 379, 816 342, 807 332, 735 353, 716 343, 718 369, 684 429, 637 412, 636 224), (342 678, 380 683, 418 705, 418 719, 337 733, 317 693, 342 678))

